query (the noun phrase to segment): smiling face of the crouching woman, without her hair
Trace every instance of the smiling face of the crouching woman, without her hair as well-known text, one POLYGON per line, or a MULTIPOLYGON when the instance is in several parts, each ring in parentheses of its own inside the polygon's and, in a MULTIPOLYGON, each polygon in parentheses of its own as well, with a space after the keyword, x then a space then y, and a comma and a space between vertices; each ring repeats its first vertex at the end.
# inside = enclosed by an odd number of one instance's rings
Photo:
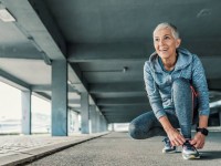
POLYGON ((154 33, 155 50, 161 59, 176 56, 176 49, 180 42, 180 39, 175 39, 170 28, 159 29, 154 33))

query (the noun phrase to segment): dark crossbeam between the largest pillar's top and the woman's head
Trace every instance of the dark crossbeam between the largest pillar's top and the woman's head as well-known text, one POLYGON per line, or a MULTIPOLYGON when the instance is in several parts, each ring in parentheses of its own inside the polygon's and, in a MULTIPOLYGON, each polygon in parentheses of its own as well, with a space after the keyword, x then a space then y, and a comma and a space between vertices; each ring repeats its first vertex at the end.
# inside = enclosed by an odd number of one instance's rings
MULTIPOLYGON (((149 45, 150 46, 150 45, 149 45)), ((70 62, 91 62, 107 60, 138 60, 147 59, 148 51, 141 43, 114 43, 114 44, 74 44, 69 45, 70 62)))

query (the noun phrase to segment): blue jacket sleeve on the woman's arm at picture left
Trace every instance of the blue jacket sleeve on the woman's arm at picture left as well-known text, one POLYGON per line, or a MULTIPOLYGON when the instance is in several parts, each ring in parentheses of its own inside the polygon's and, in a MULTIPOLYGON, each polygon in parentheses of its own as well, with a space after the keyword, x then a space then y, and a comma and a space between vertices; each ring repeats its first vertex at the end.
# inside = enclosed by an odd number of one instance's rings
POLYGON ((159 120, 161 116, 166 116, 166 112, 162 107, 159 90, 151 75, 149 62, 146 62, 144 65, 144 80, 150 106, 155 113, 155 116, 159 120))

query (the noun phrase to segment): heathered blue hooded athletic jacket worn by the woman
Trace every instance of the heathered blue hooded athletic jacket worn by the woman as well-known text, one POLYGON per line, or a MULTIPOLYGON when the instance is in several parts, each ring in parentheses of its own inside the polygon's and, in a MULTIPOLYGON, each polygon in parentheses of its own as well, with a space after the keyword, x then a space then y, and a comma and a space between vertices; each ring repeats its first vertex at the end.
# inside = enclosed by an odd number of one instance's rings
POLYGON ((198 94, 199 115, 210 114, 208 85, 204 70, 199 58, 186 49, 179 48, 178 60, 175 70, 169 74, 162 71, 158 54, 154 52, 149 61, 144 65, 144 80, 152 111, 157 118, 166 116, 165 108, 173 108, 171 85, 178 77, 185 77, 190 81, 198 94))

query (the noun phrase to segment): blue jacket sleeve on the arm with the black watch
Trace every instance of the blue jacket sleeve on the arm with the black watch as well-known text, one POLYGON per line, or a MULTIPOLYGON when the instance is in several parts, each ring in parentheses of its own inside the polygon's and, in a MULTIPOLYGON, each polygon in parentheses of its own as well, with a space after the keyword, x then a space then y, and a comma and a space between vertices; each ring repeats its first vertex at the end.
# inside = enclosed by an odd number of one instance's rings
POLYGON ((192 85, 198 94, 198 111, 199 115, 210 114, 209 106, 209 92, 208 84, 204 75, 204 70, 200 59, 197 55, 193 55, 192 64, 192 85))

